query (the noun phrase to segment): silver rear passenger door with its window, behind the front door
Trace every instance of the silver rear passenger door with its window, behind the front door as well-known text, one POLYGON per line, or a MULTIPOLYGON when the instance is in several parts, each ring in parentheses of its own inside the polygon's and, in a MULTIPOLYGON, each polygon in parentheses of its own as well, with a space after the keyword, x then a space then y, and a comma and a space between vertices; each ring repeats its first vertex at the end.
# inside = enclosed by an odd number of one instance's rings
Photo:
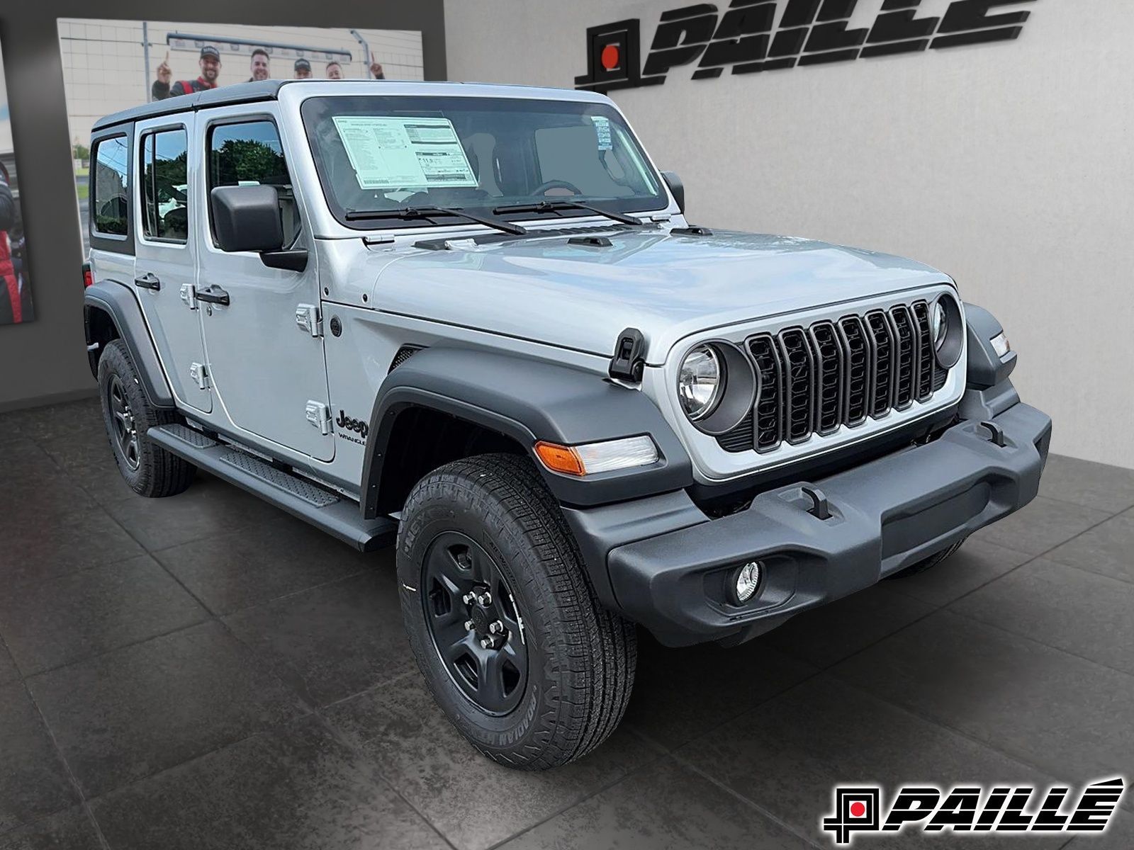
POLYGON ((212 391, 193 297, 197 246, 189 238, 198 229, 200 214, 189 163, 200 153, 191 143, 193 117, 176 118, 181 120, 139 121, 134 134, 134 287, 174 394, 185 406, 209 413, 212 391))

